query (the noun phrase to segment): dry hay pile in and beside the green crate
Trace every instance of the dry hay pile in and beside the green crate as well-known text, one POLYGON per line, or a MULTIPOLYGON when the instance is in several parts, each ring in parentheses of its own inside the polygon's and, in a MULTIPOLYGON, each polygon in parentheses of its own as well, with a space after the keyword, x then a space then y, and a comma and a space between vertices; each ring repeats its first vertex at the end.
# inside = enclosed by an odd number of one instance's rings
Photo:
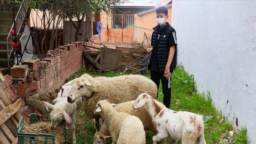
MULTIPOLYGON (((64 143, 64 124, 51 129, 50 122, 37 122, 29 125, 21 125, 23 127, 22 133, 34 133, 34 134, 52 134, 55 135, 55 144, 64 143)), ((45 140, 43 137, 36 137, 37 140, 45 140)))

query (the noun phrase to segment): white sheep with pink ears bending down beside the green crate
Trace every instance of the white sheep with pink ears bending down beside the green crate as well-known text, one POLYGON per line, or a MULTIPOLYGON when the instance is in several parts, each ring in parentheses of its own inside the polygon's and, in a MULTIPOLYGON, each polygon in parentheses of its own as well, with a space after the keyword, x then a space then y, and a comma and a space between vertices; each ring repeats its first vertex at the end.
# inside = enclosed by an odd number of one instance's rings
POLYGON ((58 96, 53 100, 53 102, 55 102, 54 105, 45 101, 41 101, 41 103, 45 107, 49 107, 52 109, 52 112, 50 112, 51 128, 56 128, 56 126, 62 120, 65 119, 65 121, 68 124, 70 124, 70 129, 72 131, 73 144, 76 144, 75 110, 77 106, 82 105, 82 98, 77 99, 77 101, 75 101, 74 103, 69 103, 67 101, 67 95, 69 94, 70 89, 71 89, 71 85, 63 85, 62 89, 58 93, 58 96))

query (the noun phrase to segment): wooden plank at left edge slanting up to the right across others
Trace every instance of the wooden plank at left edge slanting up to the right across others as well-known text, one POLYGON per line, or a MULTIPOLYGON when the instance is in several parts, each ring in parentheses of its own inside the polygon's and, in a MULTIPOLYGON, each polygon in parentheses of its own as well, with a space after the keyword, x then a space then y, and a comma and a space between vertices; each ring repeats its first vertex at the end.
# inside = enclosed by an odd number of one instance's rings
POLYGON ((18 99, 13 104, 5 107, 2 111, 0 111, 0 125, 4 123, 8 118, 14 115, 21 107, 25 105, 25 102, 21 99, 18 99))

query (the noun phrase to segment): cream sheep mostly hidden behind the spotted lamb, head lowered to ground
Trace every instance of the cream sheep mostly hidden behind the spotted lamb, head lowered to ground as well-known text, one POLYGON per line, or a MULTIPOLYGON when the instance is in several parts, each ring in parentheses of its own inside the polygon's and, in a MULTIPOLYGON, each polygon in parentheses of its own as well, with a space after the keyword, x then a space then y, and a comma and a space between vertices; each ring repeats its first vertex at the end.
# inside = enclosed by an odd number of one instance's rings
MULTIPOLYGON (((134 102, 135 102, 135 100, 119 103, 117 106, 114 106, 114 109, 117 112, 125 112, 130 115, 138 117, 141 120, 141 122, 143 123, 144 130, 150 130, 154 133, 157 133, 149 114, 145 110, 134 110, 133 109, 134 102)), ((156 103, 160 106, 160 108, 165 108, 165 105, 162 104, 161 102, 156 101, 156 103)), ((106 140, 107 138, 109 138, 108 128, 107 128, 106 124, 103 123, 101 125, 100 131, 99 132, 96 131, 96 133, 94 135, 93 144, 107 144, 107 140, 106 140)), ((163 139, 161 141, 161 144, 166 144, 166 139, 163 139)))

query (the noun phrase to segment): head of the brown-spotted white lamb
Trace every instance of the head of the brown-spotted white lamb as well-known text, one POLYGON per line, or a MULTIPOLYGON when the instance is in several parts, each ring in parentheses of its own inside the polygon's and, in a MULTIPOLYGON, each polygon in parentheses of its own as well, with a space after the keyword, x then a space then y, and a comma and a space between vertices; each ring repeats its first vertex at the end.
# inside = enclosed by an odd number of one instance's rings
POLYGON ((138 96, 136 101, 133 103, 133 109, 146 109, 145 105, 149 101, 149 99, 152 99, 152 97, 147 93, 142 93, 138 96))

